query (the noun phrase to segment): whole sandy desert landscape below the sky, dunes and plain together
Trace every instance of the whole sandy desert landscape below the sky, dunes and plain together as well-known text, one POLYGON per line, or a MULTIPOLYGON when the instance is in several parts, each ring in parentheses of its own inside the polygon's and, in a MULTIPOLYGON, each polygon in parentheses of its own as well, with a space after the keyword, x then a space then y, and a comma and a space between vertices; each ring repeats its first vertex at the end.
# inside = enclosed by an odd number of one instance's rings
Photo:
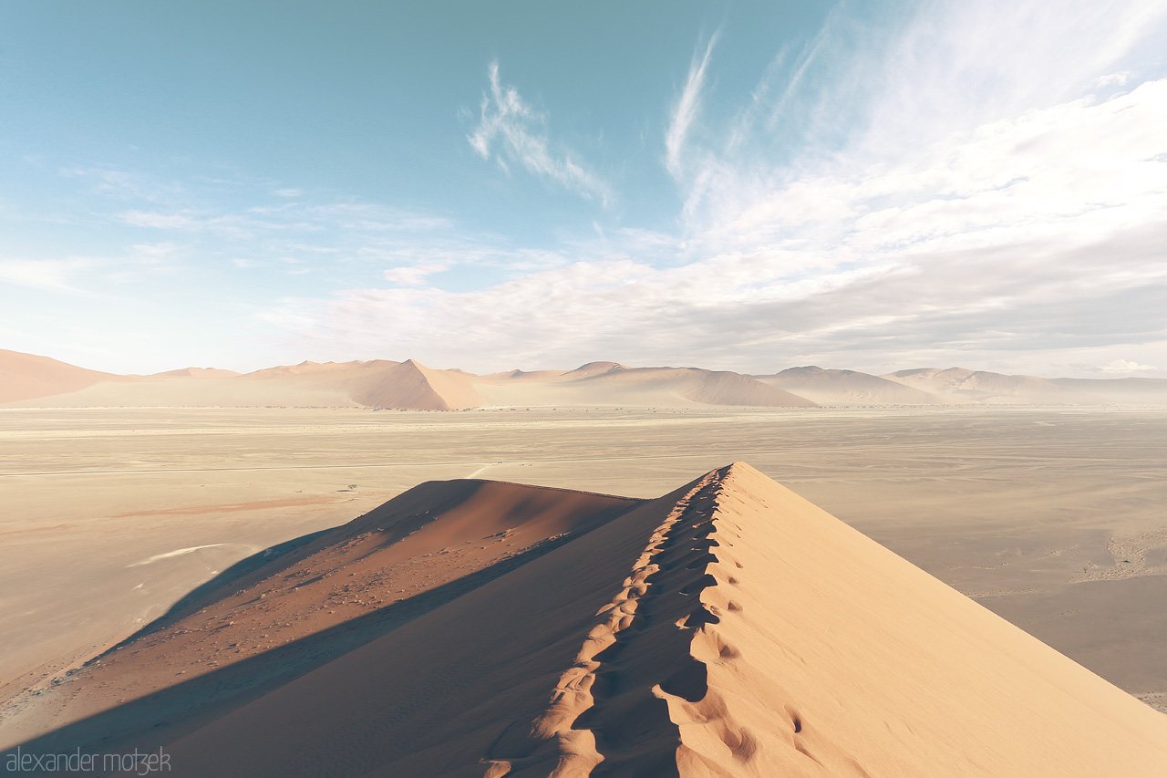
POLYGON ((1165 381, 0 357, 5 758, 1167 763, 1165 381))

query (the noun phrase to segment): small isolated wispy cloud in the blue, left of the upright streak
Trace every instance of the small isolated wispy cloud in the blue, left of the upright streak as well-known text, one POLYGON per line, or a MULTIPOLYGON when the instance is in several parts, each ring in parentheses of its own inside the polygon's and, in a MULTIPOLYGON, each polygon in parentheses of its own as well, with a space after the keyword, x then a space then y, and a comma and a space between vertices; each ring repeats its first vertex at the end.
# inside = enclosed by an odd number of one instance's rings
POLYGON ((498 62, 488 68, 490 91, 482 96, 478 125, 467 137, 484 160, 491 158, 509 171, 511 165, 526 169, 544 181, 607 206, 612 190, 589 171, 571 150, 552 144, 547 116, 523 99, 515 86, 504 85, 498 62))

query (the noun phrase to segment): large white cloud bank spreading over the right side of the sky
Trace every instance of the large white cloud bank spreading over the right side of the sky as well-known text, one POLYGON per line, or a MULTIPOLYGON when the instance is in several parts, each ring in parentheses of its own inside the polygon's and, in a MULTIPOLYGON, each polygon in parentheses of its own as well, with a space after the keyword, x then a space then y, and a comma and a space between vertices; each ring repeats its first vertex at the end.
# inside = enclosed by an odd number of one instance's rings
POLYGON ((1106 349, 1161 363, 1167 74, 1147 40, 1162 20, 1139 0, 928 5, 879 35, 832 15, 720 123, 703 112, 711 40, 663 136, 676 234, 601 231, 473 292, 305 303, 305 336, 371 348, 391 328, 398 355, 471 369, 966 359, 1056 373, 1106 349))

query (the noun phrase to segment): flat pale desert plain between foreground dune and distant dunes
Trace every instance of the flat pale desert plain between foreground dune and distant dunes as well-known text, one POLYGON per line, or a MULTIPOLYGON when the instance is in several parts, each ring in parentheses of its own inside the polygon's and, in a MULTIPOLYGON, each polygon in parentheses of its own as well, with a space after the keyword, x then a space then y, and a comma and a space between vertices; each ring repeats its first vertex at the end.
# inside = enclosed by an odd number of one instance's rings
POLYGON ((1167 411, 1034 408, 0 409, 0 701, 424 480, 651 498, 734 460, 1165 707, 1167 411))

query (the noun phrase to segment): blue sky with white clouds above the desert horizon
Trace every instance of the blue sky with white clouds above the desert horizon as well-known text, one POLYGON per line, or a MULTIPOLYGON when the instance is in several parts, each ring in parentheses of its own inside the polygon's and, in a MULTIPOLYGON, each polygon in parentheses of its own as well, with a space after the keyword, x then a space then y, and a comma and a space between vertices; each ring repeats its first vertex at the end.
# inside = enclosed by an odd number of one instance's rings
POLYGON ((0 348, 1167 377, 1167 2, 11 0, 0 348))

